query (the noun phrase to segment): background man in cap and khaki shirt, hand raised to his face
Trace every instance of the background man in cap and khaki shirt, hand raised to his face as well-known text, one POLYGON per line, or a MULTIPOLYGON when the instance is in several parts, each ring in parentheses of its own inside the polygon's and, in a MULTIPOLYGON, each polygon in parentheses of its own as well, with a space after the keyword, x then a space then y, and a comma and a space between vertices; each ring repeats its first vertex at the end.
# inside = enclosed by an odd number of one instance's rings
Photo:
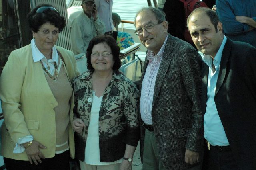
POLYGON ((97 14, 94 0, 82 1, 81 12, 72 23, 71 41, 74 55, 86 53, 90 40, 106 31, 104 23, 97 14))

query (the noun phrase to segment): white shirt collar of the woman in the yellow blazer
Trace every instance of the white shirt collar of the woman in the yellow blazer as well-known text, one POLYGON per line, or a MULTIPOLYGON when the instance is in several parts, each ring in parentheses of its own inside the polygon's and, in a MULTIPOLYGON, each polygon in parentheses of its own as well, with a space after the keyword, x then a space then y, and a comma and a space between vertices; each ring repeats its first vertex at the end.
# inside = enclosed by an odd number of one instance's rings
MULTIPOLYGON (((40 60, 46 60, 46 57, 39 51, 39 49, 36 47, 35 39, 31 40, 31 49, 32 49, 32 57, 34 62, 38 62, 40 60)), ((55 46, 52 47, 52 60, 58 63, 58 53, 55 46)))

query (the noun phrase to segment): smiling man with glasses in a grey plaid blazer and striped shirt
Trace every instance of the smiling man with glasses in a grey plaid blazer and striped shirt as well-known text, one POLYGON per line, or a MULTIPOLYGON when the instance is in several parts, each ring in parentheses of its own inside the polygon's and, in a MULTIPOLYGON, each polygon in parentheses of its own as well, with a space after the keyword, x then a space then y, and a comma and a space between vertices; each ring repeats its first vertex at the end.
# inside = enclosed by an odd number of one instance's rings
POLYGON ((168 34, 164 13, 157 8, 143 8, 135 18, 136 34, 148 49, 138 86, 143 170, 198 166, 200 56, 189 43, 168 34))

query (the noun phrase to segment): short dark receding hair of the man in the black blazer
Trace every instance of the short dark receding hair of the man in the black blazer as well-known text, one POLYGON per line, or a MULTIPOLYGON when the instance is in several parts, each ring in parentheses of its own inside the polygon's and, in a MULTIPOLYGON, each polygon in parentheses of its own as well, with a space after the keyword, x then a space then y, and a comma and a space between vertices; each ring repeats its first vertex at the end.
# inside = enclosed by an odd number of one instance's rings
POLYGON ((215 31, 218 32, 217 25, 218 25, 220 20, 219 20, 216 12, 214 10, 211 10, 210 8, 206 8, 206 7, 196 8, 194 11, 192 11, 190 13, 190 15, 188 16, 188 20, 187 20, 187 27, 188 27, 188 22, 190 21, 190 18, 194 13, 204 13, 204 14, 206 14, 210 18, 210 21, 211 21, 212 25, 214 25, 215 31))

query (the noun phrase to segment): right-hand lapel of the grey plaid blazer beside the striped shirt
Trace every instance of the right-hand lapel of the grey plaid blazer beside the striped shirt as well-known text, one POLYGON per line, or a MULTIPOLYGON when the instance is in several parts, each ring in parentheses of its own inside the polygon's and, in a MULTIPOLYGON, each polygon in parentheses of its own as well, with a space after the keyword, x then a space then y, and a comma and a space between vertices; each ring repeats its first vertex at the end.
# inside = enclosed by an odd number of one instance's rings
POLYGON ((164 78, 166 76, 167 71, 170 69, 170 63, 172 61, 173 55, 171 55, 173 51, 173 40, 172 36, 168 34, 168 39, 164 48, 164 53, 162 56, 162 61, 160 63, 160 67, 158 70, 158 73, 156 75, 156 82, 155 82, 155 88, 154 88, 154 95, 153 95, 153 102, 152 102, 152 108, 154 107, 154 103, 156 102, 156 98, 158 97, 158 94, 160 92, 162 83, 164 81, 164 78))

